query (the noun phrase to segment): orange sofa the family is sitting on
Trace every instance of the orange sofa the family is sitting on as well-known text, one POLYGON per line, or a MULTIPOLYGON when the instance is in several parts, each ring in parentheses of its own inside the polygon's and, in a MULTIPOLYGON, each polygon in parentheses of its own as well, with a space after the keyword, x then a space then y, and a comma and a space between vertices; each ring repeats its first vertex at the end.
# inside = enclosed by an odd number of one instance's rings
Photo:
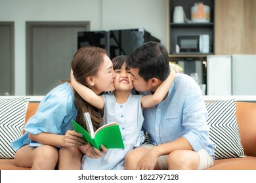
MULTIPOLYGON (((35 113, 39 103, 29 103, 26 122, 35 113)), ((210 169, 255 169, 256 170, 256 103, 236 102, 236 118, 241 143, 246 157, 215 160, 210 169)), ((0 159, 0 169, 28 169, 17 167, 14 159, 0 159)))

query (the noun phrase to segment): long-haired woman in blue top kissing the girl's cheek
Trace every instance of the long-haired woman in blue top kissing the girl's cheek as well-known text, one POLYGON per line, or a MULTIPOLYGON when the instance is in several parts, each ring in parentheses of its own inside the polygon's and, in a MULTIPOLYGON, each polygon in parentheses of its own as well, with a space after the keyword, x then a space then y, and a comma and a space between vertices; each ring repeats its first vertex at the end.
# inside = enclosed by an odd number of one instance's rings
MULTIPOLYGON (((99 94, 114 90, 112 61, 106 51, 95 47, 80 48, 72 60, 74 76, 91 92, 99 94), (90 82, 87 82, 90 78, 90 82)), ((71 120, 84 126, 83 113, 90 112, 95 127, 102 123, 102 116, 95 107, 77 95, 70 82, 60 84, 41 101, 37 112, 27 122, 26 133, 12 142, 17 150, 16 165, 32 169, 80 169, 82 153, 98 158, 85 144, 80 133, 72 131, 71 120), (29 146, 30 141, 42 144, 37 148, 29 146), (58 148, 59 147, 59 148, 58 148)))

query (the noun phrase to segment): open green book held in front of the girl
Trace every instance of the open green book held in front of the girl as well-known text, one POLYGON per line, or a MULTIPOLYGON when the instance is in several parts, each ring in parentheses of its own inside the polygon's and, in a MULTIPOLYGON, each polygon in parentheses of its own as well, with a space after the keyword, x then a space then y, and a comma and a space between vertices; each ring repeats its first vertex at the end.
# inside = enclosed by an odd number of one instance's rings
POLYGON ((90 143, 92 146, 100 150, 100 145, 104 145, 106 148, 125 148, 123 139, 121 137, 121 131, 119 125, 116 122, 103 125, 95 132, 90 129, 88 133, 81 125, 72 120, 74 130, 83 134, 83 139, 90 143))

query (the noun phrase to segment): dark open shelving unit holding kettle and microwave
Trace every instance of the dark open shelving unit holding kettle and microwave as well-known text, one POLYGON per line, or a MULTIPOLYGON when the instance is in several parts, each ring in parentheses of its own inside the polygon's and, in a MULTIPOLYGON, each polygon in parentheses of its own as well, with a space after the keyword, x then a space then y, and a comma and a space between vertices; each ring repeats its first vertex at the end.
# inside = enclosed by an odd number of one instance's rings
POLYGON ((207 55, 215 53, 215 1, 203 0, 199 2, 192 0, 169 0, 169 58, 171 61, 175 61, 181 65, 186 75, 198 73, 200 77, 199 84, 206 84, 207 55), (191 21, 191 8, 195 3, 199 2, 209 6, 209 22, 191 21), (173 12, 177 6, 181 6, 184 10, 184 23, 173 22, 173 12), (177 36, 198 36, 204 34, 209 35, 209 52, 207 54, 202 54, 202 52, 177 52, 177 36))

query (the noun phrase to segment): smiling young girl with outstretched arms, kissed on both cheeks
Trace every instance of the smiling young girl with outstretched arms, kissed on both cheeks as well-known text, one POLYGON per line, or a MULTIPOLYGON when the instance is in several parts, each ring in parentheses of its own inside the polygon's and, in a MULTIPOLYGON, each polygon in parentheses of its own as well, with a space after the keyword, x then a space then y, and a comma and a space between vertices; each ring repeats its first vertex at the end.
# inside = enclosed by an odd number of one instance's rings
MULTIPOLYGON (((121 135, 125 144, 124 149, 110 149, 101 158, 91 159, 83 156, 82 169, 123 169, 123 161, 129 150, 139 147, 144 141, 144 133, 141 131, 144 117, 142 109, 153 107, 162 101, 167 95, 175 78, 175 73, 160 85, 154 95, 132 95, 133 83, 131 73, 126 66, 127 56, 117 56, 112 60, 116 78, 114 86, 116 90, 110 94, 96 95, 89 88, 75 81, 71 75, 72 86, 85 101, 104 112, 104 124, 117 122, 121 129, 121 135)), ((154 85, 154 80, 152 80, 154 85)))

